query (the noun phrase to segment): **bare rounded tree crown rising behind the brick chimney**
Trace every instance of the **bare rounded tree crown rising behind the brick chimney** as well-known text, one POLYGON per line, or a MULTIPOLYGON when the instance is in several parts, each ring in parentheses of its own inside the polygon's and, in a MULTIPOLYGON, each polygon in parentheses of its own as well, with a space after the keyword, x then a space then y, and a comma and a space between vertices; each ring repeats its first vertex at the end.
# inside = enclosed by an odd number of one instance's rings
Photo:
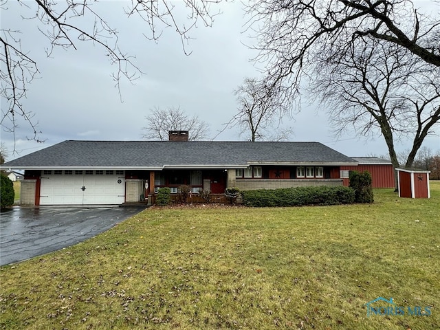
POLYGON ((197 115, 187 115, 180 107, 160 109, 156 107, 146 117, 147 125, 143 128, 146 140, 168 140, 169 131, 189 131, 188 140, 206 140, 209 126, 197 115))

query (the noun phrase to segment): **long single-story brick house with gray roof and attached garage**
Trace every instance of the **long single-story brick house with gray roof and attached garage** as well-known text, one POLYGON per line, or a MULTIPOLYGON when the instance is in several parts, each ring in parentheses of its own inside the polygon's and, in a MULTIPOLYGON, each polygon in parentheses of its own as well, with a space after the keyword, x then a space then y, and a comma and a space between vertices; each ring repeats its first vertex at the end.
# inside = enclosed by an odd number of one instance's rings
POLYGON ((3 164, 25 170, 21 205, 154 203, 157 189, 183 184, 192 197, 225 188, 342 186, 341 166, 354 159, 319 142, 78 141, 55 144, 3 164))

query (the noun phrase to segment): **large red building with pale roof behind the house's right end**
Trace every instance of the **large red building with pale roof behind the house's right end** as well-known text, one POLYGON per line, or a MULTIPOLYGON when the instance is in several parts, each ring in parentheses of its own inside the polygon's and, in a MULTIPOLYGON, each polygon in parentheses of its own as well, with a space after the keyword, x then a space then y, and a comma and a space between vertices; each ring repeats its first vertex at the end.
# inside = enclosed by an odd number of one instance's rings
POLYGON ((351 157, 357 166, 341 166, 340 177, 344 180, 344 186, 349 186, 349 171, 368 170, 371 174, 371 186, 373 188, 395 188, 395 172, 390 160, 378 157, 351 157))

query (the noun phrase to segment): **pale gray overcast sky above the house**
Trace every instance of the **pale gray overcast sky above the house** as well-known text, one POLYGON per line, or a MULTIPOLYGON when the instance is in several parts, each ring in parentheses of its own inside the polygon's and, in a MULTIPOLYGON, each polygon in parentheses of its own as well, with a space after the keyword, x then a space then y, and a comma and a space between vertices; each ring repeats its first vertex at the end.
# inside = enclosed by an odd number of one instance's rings
MULTIPOLYGON (((30 5, 34 1, 28 2, 30 5)), ((212 28, 199 24, 190 34, 194 40, 186 46, 192 52, 186 56, 177 33, 165 29, 158 43, 146 39, 142 32, 148 26, 136 19, 127 19, 121 1, 104 1, 98 8, 108 17, 110 25, 120 32, 120 47, 136 58, 133 62, 144 72, 132 85, 121 82, 122 102, 111 78, 111 66, 104 50, 91 43, 76 43, 78 50, 57 49, 47 58, 49 43, 36 28, 36 20, 28 10, 7 4, 1 10, 1 28, 21 30, 21 46, 28 50, 39 66, 39 79, 28 85, 23 105, 35 113, 42 131, 43 144, 27 141, 32 136, 29 126, 20 122, 17 129, 16 150, 13 136, 1 131, 1 142, 10 152, 11 160, 64 140, 142 140, 145 117, 154 107, 181 107, 188 115, 198 115, 210 125, 210 137, 217 135, 223 124, 236 113, 234 89, 245 77, 259 76, 258 67, 250 60, 256 54, 243 44, 250 45, 241 3, 224 3, 223 13, 214 19, 212 28)), ((41 25, 40 25, 41 27, 41 25)), ((354 133, 338 139, 331 133, 325 109, 303 100, 302 111, 286 118, 283 124, 292 126, 292 141, 322 142, 348 156, 388 154, 383 137, 366 140, 354 133)), ((2 100, 2 111, 5 102, 2 100)), ((437 131, 439 131, 437 126, 437 131)), ((239 129, 227 129, 215 140, 244 140, 239 129)), ((440 137, 430 136, 423 146, 440 150, 440 137)), ((397 143, 397 151, 410 148, 408 141, 397 143)))

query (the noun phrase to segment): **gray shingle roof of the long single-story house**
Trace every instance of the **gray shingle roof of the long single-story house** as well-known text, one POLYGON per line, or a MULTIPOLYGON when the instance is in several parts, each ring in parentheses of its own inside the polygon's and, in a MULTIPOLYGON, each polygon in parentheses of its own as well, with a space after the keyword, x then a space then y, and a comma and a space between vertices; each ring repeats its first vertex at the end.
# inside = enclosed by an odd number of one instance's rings
POLYGON ((76 141, 3 164, 3 168, 245 167, 249 164, 357 164, 319 142, 76 141))

